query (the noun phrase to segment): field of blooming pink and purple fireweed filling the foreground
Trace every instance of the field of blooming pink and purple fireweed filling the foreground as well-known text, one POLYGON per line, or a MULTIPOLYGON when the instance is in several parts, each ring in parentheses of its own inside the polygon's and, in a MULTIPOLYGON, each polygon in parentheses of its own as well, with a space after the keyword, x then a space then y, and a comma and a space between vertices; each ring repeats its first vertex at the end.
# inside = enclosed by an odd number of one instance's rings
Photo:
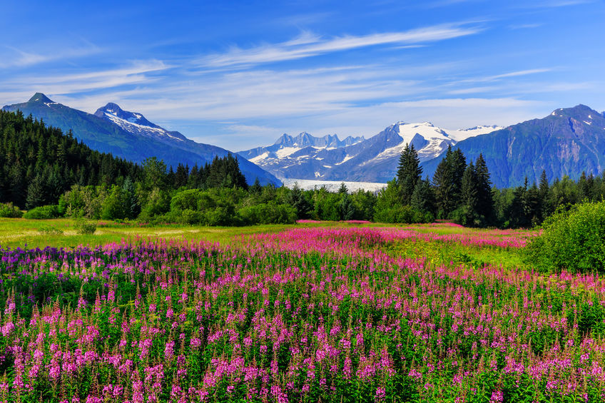
POLYGON ((598 275, 444 264, 390 249, 514 251, 535 235, 423 231, 297 228, 230 246, 134 239, 0 250, 0 398, 604 399, 598 275))

